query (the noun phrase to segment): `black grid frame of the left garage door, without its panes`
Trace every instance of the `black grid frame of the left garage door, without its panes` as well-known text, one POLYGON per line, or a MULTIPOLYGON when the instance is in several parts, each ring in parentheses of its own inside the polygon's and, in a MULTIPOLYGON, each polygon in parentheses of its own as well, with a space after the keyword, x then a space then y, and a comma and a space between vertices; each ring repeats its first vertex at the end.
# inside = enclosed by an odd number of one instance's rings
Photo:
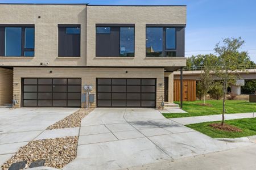
POLYGON ((20 106, 21 107, 68 107, 68 108, 79 108, 79 107, 81 107, 81 92, 82 92, 82 90, 81 90, 81 82, 82 82, 82 80, 81 80, 81 78, 22 78, 21 79, 21 92, 20 92, 20 95, 21 95, 21 97, 20 97, 20 99, 22 100, 21 101, 21 103, 20 103, 20 106), (37 79, 37 83, 36 84, 24 84, 24 79, 37 79), (51 84, 39 84, 39 79, 51 79, 51 81, 52 81, 52 83, 51 84), (66 84, 53 84, 53 79, 67 79, 67 83, 66 84), (80 84, 68 84, 68 79, 80 79, 80 84), (27 86, 37 86, 37 88, 36 88, 36 91, 35 92, 26 92, 26 93, 36 93, 37 94, 37 96, 36 96, 36 99, 24 99, 24 85, 27 85, 27 86), (39 86, 51 86, 51 88, 52 88, 52 90, 51 90, 51 92, 43 92, 43 91, 39 91, 39 86), (57 92, 57 91, 53 91, 53 86, 66 86, 66 89, 67 89, 67 91, 65 91, 65 92, 57 92), (68 91, 68 86, 80 86, 80 88, 79 88, 79 91, 76 91, 76 92, 72 92, 72 91, 68 91), (39 97, 39 93, 51 93, 51 99, 38 99, 38 97, 39 97), (67 98, 66 99, 56 99, 56 101, 67 101, 67 104, 65 105, 65 106, 58 106, 58 105, 53 105, 53 101, 55 101, 54 99, 53 99, 53 94, 58 94, 58 93, 65 93, 67 96, 67 98), (80 94, 80 99, 68 99, 68 94, 80 94), (24 100, 36 100, 36 105, 35 106, 32 106, 32 105, 25 105, 24 106, 24 100), (39 100, 45 100, 45 101, 48 101, 48 100, 50 100, 51 101, 51 105, 48 105, 48 106, 41 106, 41 105, 39 105, 38 104, 38 101, 39 100), (80 101, 80 104, 79 105, 75 105, 75 106, 69 106, 68 105, 68 101, 80 101))

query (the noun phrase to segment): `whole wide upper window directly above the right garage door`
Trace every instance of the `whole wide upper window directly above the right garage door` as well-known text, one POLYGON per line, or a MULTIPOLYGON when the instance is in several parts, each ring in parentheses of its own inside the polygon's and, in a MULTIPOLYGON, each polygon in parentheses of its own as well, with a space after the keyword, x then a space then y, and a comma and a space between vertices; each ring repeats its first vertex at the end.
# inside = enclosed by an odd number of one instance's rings
POLYGON ((134 57, 134 27, 96 27, 96 57, 134 57))

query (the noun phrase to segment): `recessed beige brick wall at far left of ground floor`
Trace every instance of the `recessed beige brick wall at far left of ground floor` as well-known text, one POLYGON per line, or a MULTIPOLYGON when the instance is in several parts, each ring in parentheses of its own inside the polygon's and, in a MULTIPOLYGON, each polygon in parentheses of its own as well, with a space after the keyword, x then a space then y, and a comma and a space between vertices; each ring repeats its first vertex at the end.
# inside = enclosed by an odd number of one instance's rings
POLYGON ((13 100, 13 70, 0 68, 0 105, 13 100))

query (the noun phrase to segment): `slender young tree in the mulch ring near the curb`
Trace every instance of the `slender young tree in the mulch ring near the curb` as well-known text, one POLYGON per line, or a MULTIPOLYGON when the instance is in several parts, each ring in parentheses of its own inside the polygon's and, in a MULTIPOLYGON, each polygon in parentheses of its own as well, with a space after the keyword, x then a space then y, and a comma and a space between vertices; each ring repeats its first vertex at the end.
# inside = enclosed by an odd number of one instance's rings
POLYGON ((223 82, 223 102, 222 102, 222 122, 225 121, 225 95, 229 84, 232 84, 239 78, 239 71, 243 71, 250 65, 250 59, 247 52, 239 52, 238 50, 245 43, 241 37, 226 38, 222 44, 218 42, 214 48, 218 54, 218 66, 214 67, 214 71, 218 78, 223 82), (244 68, 244 69, 243 69, 244 68))

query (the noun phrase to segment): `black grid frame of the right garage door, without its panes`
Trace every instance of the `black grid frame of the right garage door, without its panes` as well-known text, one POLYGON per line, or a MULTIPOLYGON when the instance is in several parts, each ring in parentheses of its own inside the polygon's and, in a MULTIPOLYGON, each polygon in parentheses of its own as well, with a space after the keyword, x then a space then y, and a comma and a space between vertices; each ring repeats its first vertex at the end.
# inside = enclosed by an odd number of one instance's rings
POLYGON ((116 107, 116 108, 123 108, 123 107, 126 107, 126 108, 156 108, 156 78, 96 78, 96 106, 97 107, 104 107, 104 108, 112 108, 112 107, 116 107), (110 84, 98 84, 98 79, 111 79, 111 85, 110 84), (125 79, 126 80, 126 84, 124 85, 124 84, 113 84, 113 79, 125 79), (140 79, 141 80, 141 84, 140 85, 127 85, 127 79, 140 79), (146 84, 142 84, 142 79, 154 79, 154 85, 146 85, 146 84), (100 92, 100 93, 110 93, 111 94, 111 99, 108 99, 108 100, 106 100, 106 99, 98 99, 98 86, 111 86, 111 92, 100 92), (112 87, 113 86, 125 86, 126 87, 126 92, 113 92, 112 91, 112 87), (129 93, 137 93, 138 94, 138 92, 127 92, 127 86, 141 86, 141 91, 139 92, 139 94, 141 95, 141 97, 140 97, 140 99, 127 99, 127 94, 129 94, 129 93), (150 106, 150 107, 148 107, 148 106, 143 106, 142 105, 142 101, 153 101, 153 100, 147 100, 147 99, 143 99, 142 100, 142 94, 153 94, 153 92, 142 92, 142 86, 154 86, 154 106, 150 106), (126 94, 126 99, 125 99, 125 106, 113 106, 113 103, 112 103, 112 101, 113 100, 116 100, 116 101, 118 101, 118 100, 124 100, 124 99, 113 99, 113 93, 125 93, 126 94), (105 100, 105 101, 110 101, 111 102, 111 106, 99 106, 98 105, 98 100, 105 100), (141 105, 138 107, 136 107, 136 106, 127 106, 127 100, 130 100, 130 101, 132 101, 132 100, 134 100, 134 101, 138 101, 138 100, 141 100, 141 105))

